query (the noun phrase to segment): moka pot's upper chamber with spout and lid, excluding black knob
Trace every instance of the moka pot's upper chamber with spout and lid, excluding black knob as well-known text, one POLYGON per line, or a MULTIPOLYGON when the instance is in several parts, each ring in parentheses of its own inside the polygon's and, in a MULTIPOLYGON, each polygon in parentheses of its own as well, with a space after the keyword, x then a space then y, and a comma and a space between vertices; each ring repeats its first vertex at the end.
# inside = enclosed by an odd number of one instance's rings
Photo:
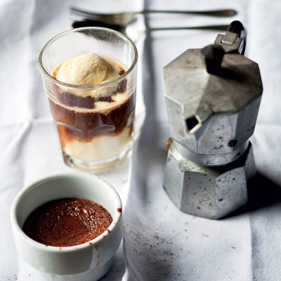
POLYGON ((209 74, 200 50, 187 50, 164 67, 171 137, 192 152, 230 152, 254 133, 263 91, 259 66, 226 53, 226 77, 209 74))

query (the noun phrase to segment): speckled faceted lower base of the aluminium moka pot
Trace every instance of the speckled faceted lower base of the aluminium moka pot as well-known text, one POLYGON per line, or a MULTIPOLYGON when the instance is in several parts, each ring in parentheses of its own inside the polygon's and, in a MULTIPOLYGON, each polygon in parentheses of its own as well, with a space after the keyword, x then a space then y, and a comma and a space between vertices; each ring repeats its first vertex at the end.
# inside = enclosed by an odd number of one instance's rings
POLYGON ((247 203, 247 182, 255 174, 251 143, 235 162, 216 167, 186 159, 171 143, 163 186, 181 211, 218 219, 247 203))

